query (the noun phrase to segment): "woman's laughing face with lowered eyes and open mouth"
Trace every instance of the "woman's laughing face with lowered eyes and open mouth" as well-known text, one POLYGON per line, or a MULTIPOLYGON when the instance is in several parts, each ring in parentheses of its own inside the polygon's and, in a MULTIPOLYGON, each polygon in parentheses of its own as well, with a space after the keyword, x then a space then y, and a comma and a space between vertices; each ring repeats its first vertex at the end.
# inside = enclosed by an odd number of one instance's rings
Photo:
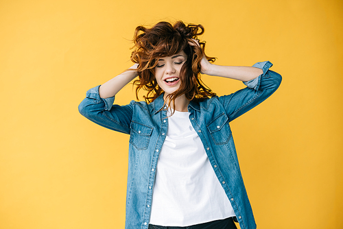
POLYGON ((158 60, 155 78, 158 86, 165 91, 165 96, 174 93, 180 87, 180 70, 186 61, 187 55, 184 51, 158 60))

